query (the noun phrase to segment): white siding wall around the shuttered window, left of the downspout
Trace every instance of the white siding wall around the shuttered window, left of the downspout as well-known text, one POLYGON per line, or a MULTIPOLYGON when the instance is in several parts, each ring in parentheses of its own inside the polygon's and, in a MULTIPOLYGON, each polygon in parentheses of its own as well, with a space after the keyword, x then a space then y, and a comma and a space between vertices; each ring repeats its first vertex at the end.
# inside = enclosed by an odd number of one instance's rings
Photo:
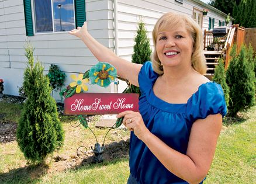
MULTIPOLYGON (((113 2, 85 2, 89 32, 96 40, 113 50, 113 2)), ((34 57, 38 57, 44 65, 46 74, 50 64, 58 65, 67 74, 66 85, 72 81, 71 74, 85 72, 97 63, 84 43, 68 32, 41 33, 27 37, 23 1, 0 1, 0 78, 4 79, 5 94, 19 95, 26 67, 26 40, 30 40, 35 47, 34 57)), ((110 92, 110 87, 91 85, 89 92, 110 92)), ((60 98, 58 92, 54 92, 54 98, 60 98)))

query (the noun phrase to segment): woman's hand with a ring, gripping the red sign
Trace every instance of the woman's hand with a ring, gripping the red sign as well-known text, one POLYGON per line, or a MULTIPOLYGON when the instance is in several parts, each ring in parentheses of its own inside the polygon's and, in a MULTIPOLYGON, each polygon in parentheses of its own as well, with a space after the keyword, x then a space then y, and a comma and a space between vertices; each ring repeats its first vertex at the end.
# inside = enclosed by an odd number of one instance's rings
POLYGON ((134 131, 134 134, 142 140, 143 137, 147 135, 150 131, 144 124, 144 121, 139 112, 133 112, 132 110, 127 110, 122 113, 117 114, 117 118, 123 117, 123 124, 128 130, 134 131))

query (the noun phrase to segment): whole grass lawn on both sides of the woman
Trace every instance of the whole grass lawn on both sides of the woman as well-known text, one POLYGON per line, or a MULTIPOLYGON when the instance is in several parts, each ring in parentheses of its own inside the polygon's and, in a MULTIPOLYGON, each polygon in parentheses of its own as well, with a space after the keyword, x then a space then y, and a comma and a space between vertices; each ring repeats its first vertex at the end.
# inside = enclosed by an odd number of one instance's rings
MULTIPOLYGON (((17 122, 22 105, 0 102, 0 114, 10 122, 17 122)), ((220 134, 216 148, 215 159, 205 183, 256 183, 256 106, 248 112, 242 113, 243 121, 225 124, 220 134)), ((73 128, 68 124, 75 121, 72 116, 61 116, 65 130, 64 147, 53 155, 75 154, 79 145, 93 145, 95 143, 91 132, 83 127, 73 128)), ((101 119, 96 116, 89 126, 101 119)), ((0 121, 1 121, 0 117, 0 121)), ((100 143, 108 129, 92 128, 100 143)), ((106 144, 129 137, 129 132, 123 130, 110 131, 106 144)), ((70 168, 63 168, 61 164, 68 162, 54 162, 48 159, 48 168, 27 165, 26 159, 20 152, 16 141, 0 144, 0 183, 126 183, 129 176, 129 160, 127 155, 119 159, 112 159, 101 164, 77 164, 70 168)))

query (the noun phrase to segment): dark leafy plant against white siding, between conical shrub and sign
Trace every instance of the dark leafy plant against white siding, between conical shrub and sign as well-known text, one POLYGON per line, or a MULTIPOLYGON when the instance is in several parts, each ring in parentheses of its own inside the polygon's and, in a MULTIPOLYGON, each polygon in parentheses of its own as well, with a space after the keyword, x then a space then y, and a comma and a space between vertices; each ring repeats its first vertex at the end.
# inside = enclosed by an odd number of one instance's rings
POLYGON ((53 89, 59 88, 64 85, 66 75, 58 68, 57 65, 50 65, 47 76, 49 77, 50 85, 53 89))

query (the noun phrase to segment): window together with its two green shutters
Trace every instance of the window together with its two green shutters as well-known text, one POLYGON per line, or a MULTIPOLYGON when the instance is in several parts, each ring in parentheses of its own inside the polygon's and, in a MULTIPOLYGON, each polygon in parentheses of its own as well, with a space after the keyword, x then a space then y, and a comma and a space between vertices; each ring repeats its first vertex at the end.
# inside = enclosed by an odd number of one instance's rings
POLYGON ((85 22, 85 0, 23 0, 26 34, 65 32, 85 22))

